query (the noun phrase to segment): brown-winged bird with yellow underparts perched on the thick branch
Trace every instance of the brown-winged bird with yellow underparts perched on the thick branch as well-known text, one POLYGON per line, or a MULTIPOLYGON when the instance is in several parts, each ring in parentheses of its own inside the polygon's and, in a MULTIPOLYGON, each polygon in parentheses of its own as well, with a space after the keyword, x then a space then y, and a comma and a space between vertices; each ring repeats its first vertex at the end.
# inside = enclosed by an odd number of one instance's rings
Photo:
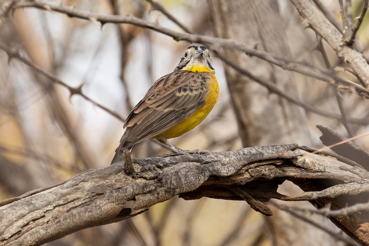
POLYGON ((159 78, 132 109, 124 123, 124 133, 111 164, 124 160, 124 150, 132 150, 148 138, 167 145, 176 154, 208 152, 182 150, 168 139, 182 136, 200 124, 218 100, 219 85, 205 46, 190 46, 172 73, 159 78))

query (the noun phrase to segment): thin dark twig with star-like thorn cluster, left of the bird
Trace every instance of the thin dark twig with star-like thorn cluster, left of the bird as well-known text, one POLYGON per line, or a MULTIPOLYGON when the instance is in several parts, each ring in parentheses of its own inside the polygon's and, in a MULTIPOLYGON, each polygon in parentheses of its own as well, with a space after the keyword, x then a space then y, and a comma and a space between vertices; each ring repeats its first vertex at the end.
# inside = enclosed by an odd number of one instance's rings
POLYGON ((38 73, 44 75, 46 78, 48 78, 49 80, 51 80, 55 84, 59 84, 59 85, 62 85, 63 87, 65 87, 65 88, 67 88, 69 90, 69 93, 70 93, 70 96, 69 97, 72 97, 73 95, 80 95, 83 98, 85 98, 87 101, 91 102, 93 105, 98 106, 99 108, 101 108, 104 111, 106 111, 107 113, 113 115, 114 117, 116 117, 117 119, 121 120, 122 122, 125 121, 117 113, 115 113, 112 110, 106 108, 105 106, 101 105, 100 103, 97 103, 97 102, 93 101, 91 98, 89 98, 88 96, 86 96, 85 94, 83 94, 83 92, 82 92, 83 83, 79 87, 71 87, 68 84, 66 84, 65 82, 59 80, 59 78, 55 77, 51 73, 42 70, 36 64, 32 63, 32 61, 30 61, 30 60, 22 57, 20 55, 20 53, 18 52, 18 50, 13 51, 13 50, 11 50, 8 47, 3 46, 2 44, 0 44, 0 49, 4 50, 7 53, 7 55, 8 55, 8 61, 9 62, 10 62, 11 59, 17 58, 18 60, 22 61, 23 63, 27 64, 28 66, 30 66, 31 68, 33 68, 34 70, 36 70, 38 73))

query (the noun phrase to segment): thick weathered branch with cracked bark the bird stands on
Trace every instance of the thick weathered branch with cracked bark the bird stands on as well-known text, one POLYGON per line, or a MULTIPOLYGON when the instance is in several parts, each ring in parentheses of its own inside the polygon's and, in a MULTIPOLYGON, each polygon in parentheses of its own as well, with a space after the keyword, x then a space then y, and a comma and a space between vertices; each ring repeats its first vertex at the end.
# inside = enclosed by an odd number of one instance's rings
MULTIPOLYGON (((356 194, 367 197, 369 191, 369 173, 364 169, 331 157, 308 155, 296 144, 140 158, 132 159, 132 162, 136 172, 134 178, 124 174, 124 163, 120 162, 90 169, 52 187, 2 201, 0 245, 41 245, 83 228, 137 215, 130 215, 132 210, 128 201, 135 201, 133 209, 138 210, 177 194, 185 199, 206 196, 240 200, 227 188, 229 186, 267 201, 287 198, 277 193, 277 188, 289 179, 305 190, 300 200, 314 200, 340 208, 354 202, 358 198, 356 194), (355 170, 360 171, 361 176, 356 175, 355 170), (341 189, 335 185, 337 182, 355 189, 341 189), (329 188, 330 192, 327 191, 329 188), (321 196, 308 197, 309 191, 321 196), (342 194, 351 198, 343 201, 334 198, 342 194)), ((369 219, 369 211, 330 219, 362 245, 369 242, 369 228, 363 226, 369 219)))

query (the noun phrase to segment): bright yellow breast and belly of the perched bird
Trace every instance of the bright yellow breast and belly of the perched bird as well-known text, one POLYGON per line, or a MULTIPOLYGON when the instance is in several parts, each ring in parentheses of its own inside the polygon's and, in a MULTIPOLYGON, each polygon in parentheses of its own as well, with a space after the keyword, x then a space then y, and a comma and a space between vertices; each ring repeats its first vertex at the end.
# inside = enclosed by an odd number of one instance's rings
POLYGON ((217 78, 215 78, 214 72, 211 70, 207 72, 210 72, 211 78, 207 81, 209 90, 206 95, 205 104, 201 106, 199 109, 197 109, 196 112, 193 115, 191 115, 188 119, 183 120, 182 122, 176 124, 170 129, 164 131, 160 135, 162 135, 167 139, 182 136, 184 133, 192 130, 194 127, 200 124, 213 109, 215 103, 218 100, 219 86, 217 78))

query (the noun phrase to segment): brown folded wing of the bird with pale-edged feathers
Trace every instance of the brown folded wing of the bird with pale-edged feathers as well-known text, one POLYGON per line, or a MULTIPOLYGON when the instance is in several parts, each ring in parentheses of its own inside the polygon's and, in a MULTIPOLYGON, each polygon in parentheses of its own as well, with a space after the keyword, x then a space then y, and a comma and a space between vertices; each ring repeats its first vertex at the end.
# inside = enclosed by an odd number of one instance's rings
POLYGON ((205 103, 208 76, 175 71, 156 81, 128 116, 118 149, 130 148, 190 117, 205 103))

